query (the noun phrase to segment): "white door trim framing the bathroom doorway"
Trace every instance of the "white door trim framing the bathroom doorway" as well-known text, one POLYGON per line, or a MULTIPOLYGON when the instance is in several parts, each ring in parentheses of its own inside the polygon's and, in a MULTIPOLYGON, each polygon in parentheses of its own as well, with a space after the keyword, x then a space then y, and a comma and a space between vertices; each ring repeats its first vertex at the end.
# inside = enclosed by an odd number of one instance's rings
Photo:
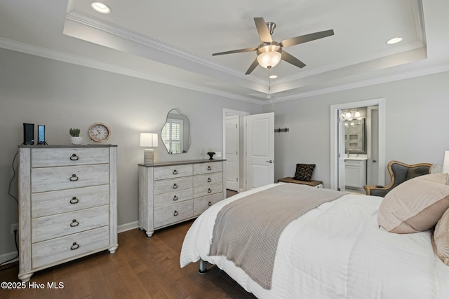
POLYGON ((385 181, 385 99, 367 99, 330 105, 330 189, 338 188, 338 110, 376 105, 379 106, 379 181, 385 181))

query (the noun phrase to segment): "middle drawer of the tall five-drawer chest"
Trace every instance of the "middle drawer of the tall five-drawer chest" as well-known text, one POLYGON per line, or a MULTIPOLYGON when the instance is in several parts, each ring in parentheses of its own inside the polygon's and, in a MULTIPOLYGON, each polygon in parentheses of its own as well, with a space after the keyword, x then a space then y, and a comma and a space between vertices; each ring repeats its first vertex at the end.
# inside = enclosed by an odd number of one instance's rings
POLYGON ((109 185, 83 187, 31 195, 32 218, 65 213, 109 203, 109 185))

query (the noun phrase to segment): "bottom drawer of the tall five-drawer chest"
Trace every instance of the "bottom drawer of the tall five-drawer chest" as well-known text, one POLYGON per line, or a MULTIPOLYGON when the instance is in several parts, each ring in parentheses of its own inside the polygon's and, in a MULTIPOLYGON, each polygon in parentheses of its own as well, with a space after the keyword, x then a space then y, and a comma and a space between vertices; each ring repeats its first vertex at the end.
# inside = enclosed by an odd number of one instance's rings
POLYGON ((109 226, 35 243, 32 244, 32 267, 60 263, 108 246, 109 226))

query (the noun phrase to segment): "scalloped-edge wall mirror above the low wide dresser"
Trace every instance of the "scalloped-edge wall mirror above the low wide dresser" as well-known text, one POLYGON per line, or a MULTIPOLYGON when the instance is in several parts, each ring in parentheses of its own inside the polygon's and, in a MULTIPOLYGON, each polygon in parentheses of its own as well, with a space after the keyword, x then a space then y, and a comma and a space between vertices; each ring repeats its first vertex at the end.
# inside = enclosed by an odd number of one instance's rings
POLYGON ((166 123, 161 130, 161 139, 167 153, 187 153, 190 147, 189 118, 176 109, 168 111, 166 123))

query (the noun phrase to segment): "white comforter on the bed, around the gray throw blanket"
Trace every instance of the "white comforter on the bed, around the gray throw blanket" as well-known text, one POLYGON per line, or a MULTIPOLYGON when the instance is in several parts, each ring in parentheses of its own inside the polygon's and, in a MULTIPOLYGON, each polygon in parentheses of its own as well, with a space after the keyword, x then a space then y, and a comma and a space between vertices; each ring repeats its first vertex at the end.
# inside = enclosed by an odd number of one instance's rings
POLYGON ((269 287, 226 256, 210 255, 220 210, 280 184, 239 193, 201 214, 185 236, 180 266, 198 260, 201 267, 216 265, 260 299, 449 298, 449 266, 434 252, 432 230, 397 234, 380 228, 382 197, 344 194, 288 223, 279 237, 269 287))

